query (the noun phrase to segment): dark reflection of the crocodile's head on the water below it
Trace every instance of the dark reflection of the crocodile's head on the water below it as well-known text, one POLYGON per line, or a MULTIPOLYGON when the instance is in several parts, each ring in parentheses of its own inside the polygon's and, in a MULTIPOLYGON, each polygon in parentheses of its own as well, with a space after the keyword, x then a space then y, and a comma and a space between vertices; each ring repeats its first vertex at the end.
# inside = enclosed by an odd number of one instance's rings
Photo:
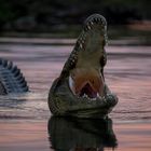
POLYGON ((84 120, 52 116, 47 131, 51 146, 59 151, 102 151, 114 149, 116 138, 112 120, 84 120))

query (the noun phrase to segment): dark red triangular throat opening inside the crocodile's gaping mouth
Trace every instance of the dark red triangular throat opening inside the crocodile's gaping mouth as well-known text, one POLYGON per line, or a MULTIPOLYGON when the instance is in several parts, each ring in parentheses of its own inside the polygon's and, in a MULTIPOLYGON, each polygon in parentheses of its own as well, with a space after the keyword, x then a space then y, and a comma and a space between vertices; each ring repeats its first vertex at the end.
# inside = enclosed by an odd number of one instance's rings
POLYGON ((88 96, 90 98, 96 98, 97 97, 97 92, 95 92, 92 88, 92 86, 87 83, 81 90, 80 96, 88 96))

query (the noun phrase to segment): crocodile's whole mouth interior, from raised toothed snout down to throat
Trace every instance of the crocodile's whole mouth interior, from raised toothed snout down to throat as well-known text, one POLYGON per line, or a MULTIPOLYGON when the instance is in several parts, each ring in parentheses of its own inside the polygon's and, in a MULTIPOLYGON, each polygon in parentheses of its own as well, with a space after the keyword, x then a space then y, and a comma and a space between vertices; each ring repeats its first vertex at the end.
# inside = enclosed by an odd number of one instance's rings
POLYGON ((107 22, 95 14, 90 16, 71 54, 73 68, 69 71, 69 86, 77 97, 95 100, 105 95, 104 66, 107 61, 107 22))

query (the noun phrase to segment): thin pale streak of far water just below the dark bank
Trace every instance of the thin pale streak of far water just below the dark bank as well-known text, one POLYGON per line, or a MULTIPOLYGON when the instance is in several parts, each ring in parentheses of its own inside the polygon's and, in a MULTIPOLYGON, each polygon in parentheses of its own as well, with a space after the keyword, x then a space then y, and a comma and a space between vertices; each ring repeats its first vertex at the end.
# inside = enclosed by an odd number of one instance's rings
MULTIPOLYGON (((0 44, 28 44, 28 45, 74 45, 74 38, 16 38, 0 37, 0 44)), ((150 41, 143 38, 123 38, 120 40, 109 40, 109 45, 151 45, 150 41)))

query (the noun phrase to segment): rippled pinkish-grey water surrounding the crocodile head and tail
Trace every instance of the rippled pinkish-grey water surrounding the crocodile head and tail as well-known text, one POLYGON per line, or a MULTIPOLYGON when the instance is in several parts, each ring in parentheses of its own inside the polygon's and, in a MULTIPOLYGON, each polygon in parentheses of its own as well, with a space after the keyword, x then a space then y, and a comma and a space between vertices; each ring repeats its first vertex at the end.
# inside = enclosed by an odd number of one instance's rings
MULTIPOLYGON (((51 116, 47 94, 72 49, 73 45, 65 44, 0 44, 0 56, 20 68, 31 91, 24 96, 0 97, 2 151, 52 150, 46 128, 51 116)), ((106 50, 106 82, 119 97, 110 113, 119 142, 115 150, 151 150, 151 46, 107 46, 106 50)), ((72 125, 69 127, 72 129, 72 125)))

